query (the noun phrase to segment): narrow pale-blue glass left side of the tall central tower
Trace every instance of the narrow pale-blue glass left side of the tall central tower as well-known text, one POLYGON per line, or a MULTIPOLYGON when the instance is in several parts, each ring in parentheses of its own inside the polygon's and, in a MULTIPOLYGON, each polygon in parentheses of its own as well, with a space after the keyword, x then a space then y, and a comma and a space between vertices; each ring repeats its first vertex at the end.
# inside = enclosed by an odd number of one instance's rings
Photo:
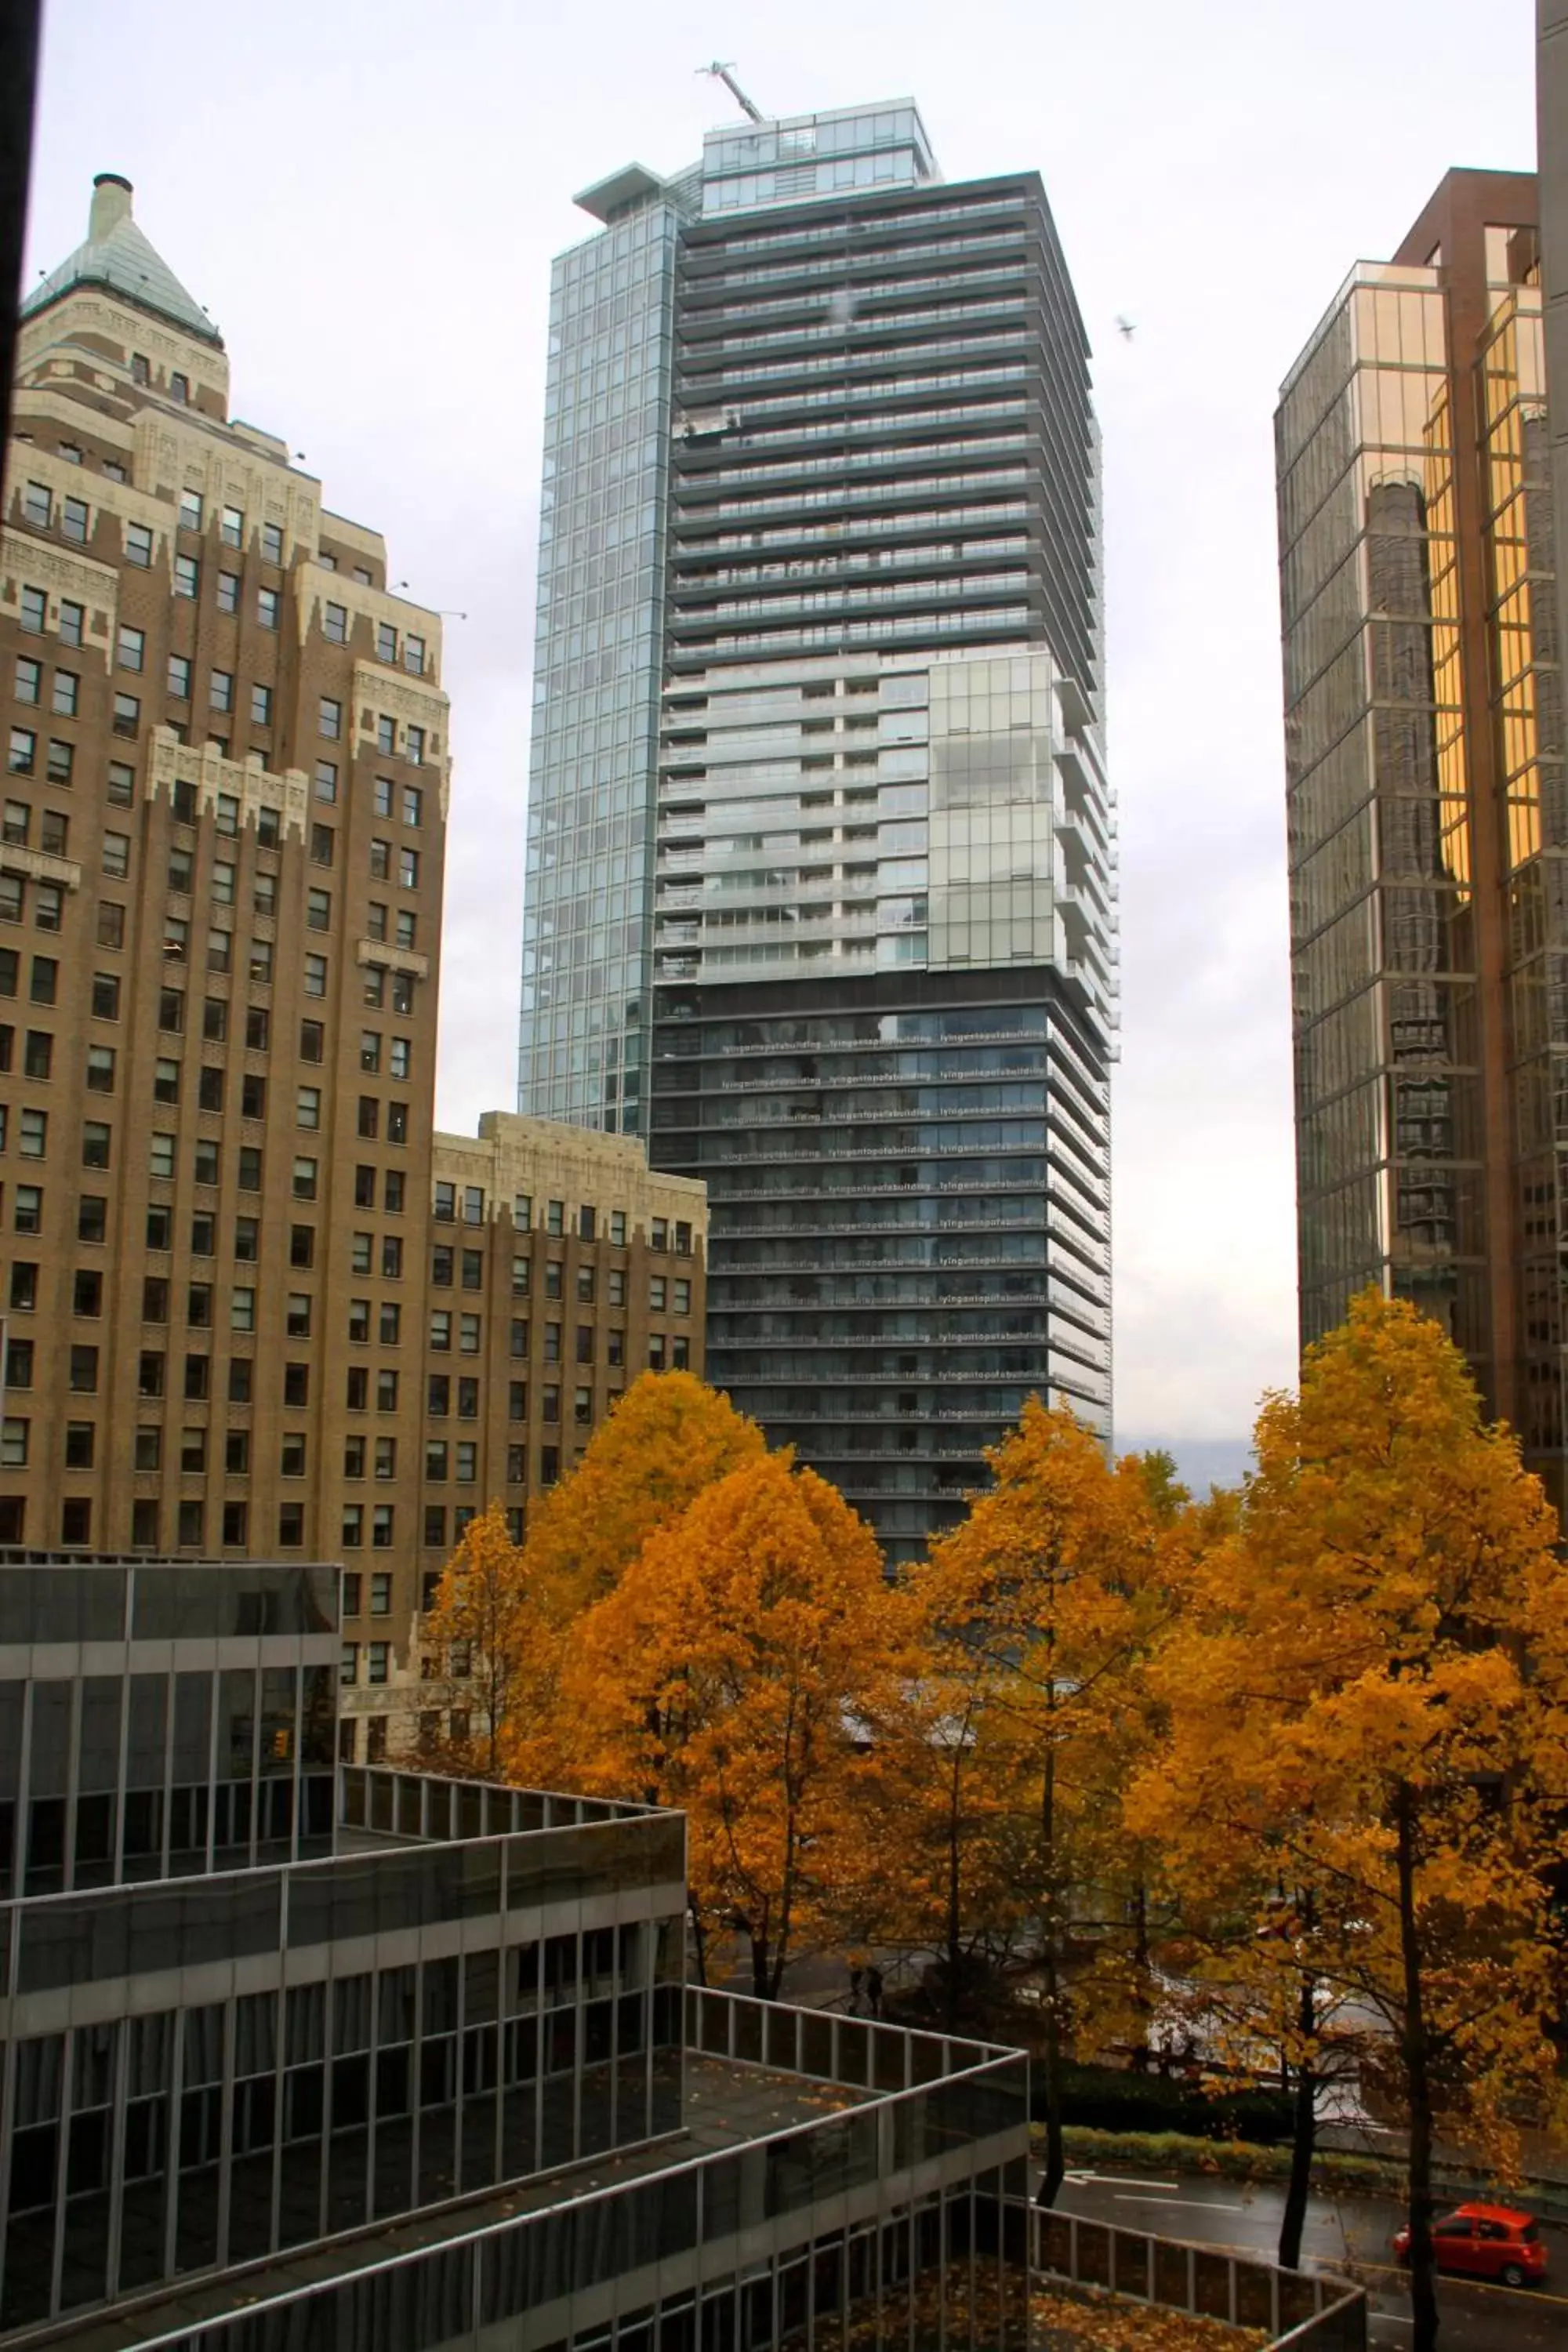
POLYGON ((545 480, 517 1108, 637 1134, 663 675, 677 198, 562 254, 545 480))

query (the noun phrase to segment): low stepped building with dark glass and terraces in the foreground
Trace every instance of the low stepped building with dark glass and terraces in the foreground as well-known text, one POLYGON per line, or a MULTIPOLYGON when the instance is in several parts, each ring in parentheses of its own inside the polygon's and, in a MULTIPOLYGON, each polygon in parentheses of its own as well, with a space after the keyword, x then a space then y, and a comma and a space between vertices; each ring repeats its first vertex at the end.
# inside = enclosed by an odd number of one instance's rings
MULTIPOLYGON (((329 1762, 336 1613, 329 1569, 0 1564, 24 1802, 61 1689, 85 1788, 244 1644, 268 1752, 329 1762)), ((327 1830, 0 1903, 0 2340, 1023 2352, 1018 2053, 686 1987, 677 1813, 341 1766, 327 1830)))

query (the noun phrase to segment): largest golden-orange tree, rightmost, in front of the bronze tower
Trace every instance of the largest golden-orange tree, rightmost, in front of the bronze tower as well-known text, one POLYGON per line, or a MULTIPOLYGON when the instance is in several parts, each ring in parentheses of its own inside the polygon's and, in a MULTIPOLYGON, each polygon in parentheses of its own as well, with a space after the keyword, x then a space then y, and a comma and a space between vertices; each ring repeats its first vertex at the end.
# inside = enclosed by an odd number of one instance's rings
POLYGON ((1382 2020, 1432 2352, 1436 2126, 1507 2164, 1554 2077, 1568 1569, 1458 1350, 1378 1291, 1307 1350, 1300 1397, 1265 1402, 1255 1456, 1166 1649, 1171 1745, 1128 1811, 1251 1907, 1265 2016, 1298 1987, 1300 2065, 1307 1983, 1382 2020))

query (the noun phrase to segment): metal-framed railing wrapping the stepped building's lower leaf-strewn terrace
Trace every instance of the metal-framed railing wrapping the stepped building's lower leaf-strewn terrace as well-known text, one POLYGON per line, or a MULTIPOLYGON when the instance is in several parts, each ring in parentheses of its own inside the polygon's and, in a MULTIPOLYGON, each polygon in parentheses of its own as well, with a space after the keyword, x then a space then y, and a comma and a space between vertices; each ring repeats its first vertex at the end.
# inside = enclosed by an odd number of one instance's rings
MULTIPOLYGON (((823 2112, 729 2145, 686 2152, 663 2143, 654 2169, 583 2187, 562 2178, 531 2209, 501 2192, 473 2216, 395 2216, 378 2232, 273 2256, 244 2270, 167 2286, 158 2305, 85 2314, 92 2352, 482 2352, 501 2340, 562 2343, 592 2333, 625 2305, 689 2314, 693 2296, 729 2305, 788 2256, 811 2258, 818 2227, 886 2223, 900 2201, 964 2192, 1023 2166, 1027 2072, 1018 2051, 910 2032, 865 2018, 792 2011, 743 1994, 686 1990, 686 2049, 799 2074, 827 2093, 823 2112), (849 2098, 832 2098, 832 2089, 849 2098), (759 2265, 750 2256, 771 2249, 759 2265), (113 2338, 92 2336, 108 2317, 113 2338)), ((529 2183, 543 2190, 543 2183, 529 2183)), ((752 2340, 790 2333, 783 2296, 752 2340)), ((837 2310, 837 2288, 835 2288, 837 2310)), ((750 2305, 755 2324, 762 2319, 750 2305)), ((729 2319, 729 2312, 715 2319, 729 2319)), ((679 2324, 679 2321, 677 2321, 679 2324)), ((71 2328, 59 2328, 68 2340, 71 2328)), ((691 2340, 686 2333, 679 2340, 691 2340)), ((733 2324, 701 2340, 736 2340, 733 2324)), ((820 2338, 818 2338, 820 2340, 820 2338)), ((839 2319, 835 2340, 844 2340, 839 2319)), ((957 2340, 957 2338, 954 2338, 957 2340)))

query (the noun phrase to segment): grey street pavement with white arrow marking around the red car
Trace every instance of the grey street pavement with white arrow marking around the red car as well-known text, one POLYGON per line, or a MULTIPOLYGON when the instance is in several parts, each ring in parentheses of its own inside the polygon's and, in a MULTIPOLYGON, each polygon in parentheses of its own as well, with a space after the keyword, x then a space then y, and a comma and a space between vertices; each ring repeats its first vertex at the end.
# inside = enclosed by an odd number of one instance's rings
MULTIPOLYGON (((1154 2230, 1159 2237, 1272 2260, 1284 2183, 1140 2176, 1131 2166, 1070 2171, 1058 2206, 1086 2220, 1112 2220, 1124 2230, 1154 2230)), ((1338 2270, 1368 2288, 1371 2343, 1380 2347, 1410 2343, 1410 2298, 1389 2251, 1401 2220, 1403 2211, 1392 2197, 1314 2197, 1302 2237, 1307 2270, 1338 2270)), ((1547 2352, 1568 2343, 1568 2230, 1542 2223, 1542 2239, 1552 2263, 1544 2288, 1512 2293, 1474 2279, 1439 2279, 1443 2352, 1547 2352)))

